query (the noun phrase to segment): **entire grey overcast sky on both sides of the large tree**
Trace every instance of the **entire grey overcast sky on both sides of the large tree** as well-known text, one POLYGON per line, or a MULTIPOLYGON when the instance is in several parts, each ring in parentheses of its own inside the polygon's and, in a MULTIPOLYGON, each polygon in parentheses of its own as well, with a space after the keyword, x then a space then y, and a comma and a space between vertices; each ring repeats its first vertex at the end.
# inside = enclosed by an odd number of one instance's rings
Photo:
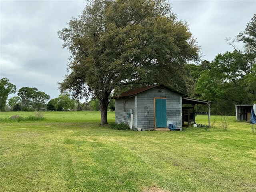
MULTIPOLYGON (((256 13, 256 1, 170 1, 178 20, 188 22, 201 46, 203 60, 232 51, 226 37, 238 35, 256 13)), ((66 74, 70 56, 57 31, 81 14, 85 1, 0 0, 0 78, 22 87, 36 87, 50 98, 66 74)), ((12 94, 9 96, 16 96, 12 94)))

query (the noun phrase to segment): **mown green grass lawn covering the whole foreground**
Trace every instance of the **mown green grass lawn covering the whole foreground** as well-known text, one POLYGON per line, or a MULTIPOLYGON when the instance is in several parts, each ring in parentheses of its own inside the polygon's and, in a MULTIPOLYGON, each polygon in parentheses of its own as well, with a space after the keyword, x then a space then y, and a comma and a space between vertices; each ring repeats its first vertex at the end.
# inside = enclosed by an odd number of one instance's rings
POLYGON ((1 192, 256 191, 256 134, 234 117, 228 130, 212 116, 209 130, 136 132, 100 126, 99 112, 43 114, 12 122, 34 112, 1 112, 1 192))

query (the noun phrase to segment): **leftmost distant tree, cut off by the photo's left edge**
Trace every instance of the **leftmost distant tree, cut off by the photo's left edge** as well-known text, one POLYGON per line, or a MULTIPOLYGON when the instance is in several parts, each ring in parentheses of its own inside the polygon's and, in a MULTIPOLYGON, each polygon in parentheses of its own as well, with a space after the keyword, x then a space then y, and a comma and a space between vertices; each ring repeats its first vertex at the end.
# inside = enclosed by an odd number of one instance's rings
POLYGON ((16 93, 16 86, 4 77, 0 80, 0 110, 4 111, 9 94, 16 93))

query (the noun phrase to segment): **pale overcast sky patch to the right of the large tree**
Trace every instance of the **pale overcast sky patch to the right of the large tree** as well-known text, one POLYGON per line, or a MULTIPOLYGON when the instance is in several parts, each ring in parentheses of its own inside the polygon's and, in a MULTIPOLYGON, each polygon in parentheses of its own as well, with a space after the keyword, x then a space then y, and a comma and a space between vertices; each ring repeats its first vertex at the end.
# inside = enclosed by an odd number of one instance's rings
MULTIPOLYGON (((219 53, 232 51, 226 37, 238 35, 256 13, 256 1, 170 1, 179 20, 187 21, 201 46, 202 59, 212 61, 219 53)), ((242 48, 242 44, 238 44, 242 48)))

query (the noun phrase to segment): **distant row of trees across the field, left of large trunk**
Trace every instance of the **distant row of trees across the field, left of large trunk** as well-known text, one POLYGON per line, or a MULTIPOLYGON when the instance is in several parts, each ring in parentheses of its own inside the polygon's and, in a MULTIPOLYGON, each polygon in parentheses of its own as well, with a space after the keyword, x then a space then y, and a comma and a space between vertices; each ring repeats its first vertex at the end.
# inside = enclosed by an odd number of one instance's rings
MULTIPOLYGON (((37 88, 30 87, 20 88, 17 93, 18 96, 14 96, 8 100, 7 98, 9 94, 16 93, 16 86, 10 83, 8 78, 2 78, 0 80, 0 90, 1 111, 99 111, 98 99, 92 99, 89 102, 81 103, 79 100, 73 100, 70 98, 70 94, 68 92, 63 92, 57 98, 50 100, 50 96, 45 92, 38 91, 37 88)), ((114 100, 110 100, 109 102, 108 110, 113 111, 115 109, 114 100)))

